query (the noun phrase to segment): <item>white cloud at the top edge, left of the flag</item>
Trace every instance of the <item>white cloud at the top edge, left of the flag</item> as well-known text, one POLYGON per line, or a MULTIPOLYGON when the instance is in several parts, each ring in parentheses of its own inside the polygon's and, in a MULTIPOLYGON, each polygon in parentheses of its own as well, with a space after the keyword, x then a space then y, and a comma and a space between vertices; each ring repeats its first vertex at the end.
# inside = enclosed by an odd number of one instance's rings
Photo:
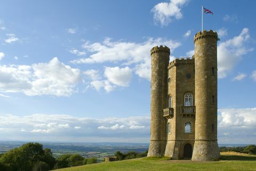
POLYGON ((151 12, 154 13, 155 23, 162 26, 168 25, 174 18, 182 18, 181 9, 188 0, 170 0, 170 2, 161 2, 153 7, 151 12))

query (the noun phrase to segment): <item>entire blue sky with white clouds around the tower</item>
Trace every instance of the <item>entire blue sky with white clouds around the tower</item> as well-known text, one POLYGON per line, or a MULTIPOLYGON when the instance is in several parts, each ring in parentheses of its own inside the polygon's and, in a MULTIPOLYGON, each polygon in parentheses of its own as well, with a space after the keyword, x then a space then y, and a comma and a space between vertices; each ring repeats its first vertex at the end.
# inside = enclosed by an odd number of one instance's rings
POLYGON ((218 32, 218 142, 256 142, 254 1, 2 1, 0 140, 150 139, 150 49, 218 32))

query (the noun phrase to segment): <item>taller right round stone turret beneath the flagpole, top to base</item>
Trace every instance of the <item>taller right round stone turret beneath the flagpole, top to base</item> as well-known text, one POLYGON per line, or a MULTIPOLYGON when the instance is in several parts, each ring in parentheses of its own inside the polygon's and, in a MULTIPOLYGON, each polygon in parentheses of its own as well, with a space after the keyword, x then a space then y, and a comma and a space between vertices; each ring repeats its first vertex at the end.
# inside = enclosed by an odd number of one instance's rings
POLYGON ((212 30, 198 32, 195 43, 195 144, 192 160, 220 157, 217 142, 217 41, 212 30))

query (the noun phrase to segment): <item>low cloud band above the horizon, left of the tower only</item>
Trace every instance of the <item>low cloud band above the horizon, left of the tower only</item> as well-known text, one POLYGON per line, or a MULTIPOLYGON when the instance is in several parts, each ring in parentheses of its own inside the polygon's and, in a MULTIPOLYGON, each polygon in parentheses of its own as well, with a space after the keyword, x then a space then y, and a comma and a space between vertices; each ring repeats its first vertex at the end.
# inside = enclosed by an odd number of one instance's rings
POLYGON ((85 118, 69 115, 0 115, 0 140, 148 142, 149 116, 85 118), (79 125, 79 126, 78 126, 79 125), (21 131, 23 130, 23 131, 21 131))

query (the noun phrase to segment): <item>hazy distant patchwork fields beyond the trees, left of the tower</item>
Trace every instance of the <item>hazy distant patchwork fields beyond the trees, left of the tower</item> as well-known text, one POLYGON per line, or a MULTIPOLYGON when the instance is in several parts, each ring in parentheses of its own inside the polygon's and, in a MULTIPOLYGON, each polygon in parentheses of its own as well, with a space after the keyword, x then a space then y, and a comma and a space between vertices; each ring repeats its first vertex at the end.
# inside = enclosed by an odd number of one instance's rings
MULTIPOLYGON (((27 142, 0 141, 0 153, 5 153, 13 148, 19 147, 27 142)), ((116 151, 145 152, 148 143, 71 143, 71 142, 39 142, 43 148, 50 148, 54 157, 65 153, 81 154, 83 157, 95 157, 103 160, 106 156, 112 156, 116 151)))

